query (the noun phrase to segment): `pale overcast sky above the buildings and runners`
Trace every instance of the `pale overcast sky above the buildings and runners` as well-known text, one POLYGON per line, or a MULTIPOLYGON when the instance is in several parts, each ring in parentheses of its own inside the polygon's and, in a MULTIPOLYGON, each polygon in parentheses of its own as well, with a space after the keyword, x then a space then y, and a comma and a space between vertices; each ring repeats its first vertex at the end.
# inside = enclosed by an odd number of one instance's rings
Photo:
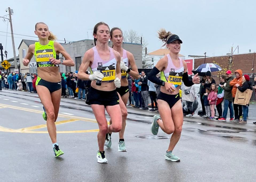
MULTIPOLYGON (((110 28, 133 29, 143 35, 148 42, 148 52, 161 48, 157 30, 165 28, 183 41, 181 54, 207 52, 207 56, 218 56, 226 55, 232 45, 234 48, 239 45, 239 53, 255 51, 255 6, 253 0, 6 0, 1 1, 0 16, 6 15, 5 9, 11 7, 14 33, 35 36, 35 24, 45 22, 58 39, 71 41, 87 39, 87 32, 92 39, 94 25, 104 21, 110 28)), ((0 19, 0 31, 6 32, 7 22, 0 19)), ((6 33, 3 32, 0 32, 0 43, 10 58, 13 57, 11 37, 7 37, 5 46, 6 33)), ((36 40, 15 35, 16 54, 22 38, 36 40)))

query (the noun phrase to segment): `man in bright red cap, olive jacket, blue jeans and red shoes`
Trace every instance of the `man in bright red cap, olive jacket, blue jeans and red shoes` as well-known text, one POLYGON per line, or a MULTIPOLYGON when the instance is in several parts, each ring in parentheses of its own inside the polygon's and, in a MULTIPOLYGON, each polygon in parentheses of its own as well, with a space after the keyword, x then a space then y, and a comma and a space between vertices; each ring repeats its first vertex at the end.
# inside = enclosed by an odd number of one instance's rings
POLYGON ((220 87, 224 90, 224 110, 223 110, 223 114, 222 114, 222 118, 219 118, 219 121, 226 121, 227 119, 227 111, 229 108, 229 113, 230 113, 230 120, 232 121, 234 120, 234 110, 233 110, 233 105, 232 105, 232 86, 230 86, 230 82, 234 79, 234 77, 232 77, 231 75, 231 71, 227 70, 226 72, 226 86, 224 85, 220 85, 220 87))

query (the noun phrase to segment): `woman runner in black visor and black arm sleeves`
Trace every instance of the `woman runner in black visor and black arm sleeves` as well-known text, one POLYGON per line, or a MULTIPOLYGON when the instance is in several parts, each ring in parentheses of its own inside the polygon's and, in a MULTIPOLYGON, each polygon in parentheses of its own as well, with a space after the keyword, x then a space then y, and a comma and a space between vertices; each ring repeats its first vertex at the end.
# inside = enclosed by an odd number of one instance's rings
POLYGON ((192 80, 188 79, 187 63, 179 58, 180 40, 178 35, 166 32, 161 29, 159 39, 164 42, 170 53, 160 59, 156 66, 148 74, 148 79, 161 86, 157 96, 159 115, 153 117, 151 132, 156 135, 158 128, 167 134, 172 134, 169 147, 165 154, 165 159, 179 161, 180 158, 172 154, 172 150, 178 143, 182 131, 183 111, 179 96, 179 87, 182 81, 186 86, 198 84, 200 78, 198 74, 192 80), (161 79, 156 75, 161 71, 161 79))

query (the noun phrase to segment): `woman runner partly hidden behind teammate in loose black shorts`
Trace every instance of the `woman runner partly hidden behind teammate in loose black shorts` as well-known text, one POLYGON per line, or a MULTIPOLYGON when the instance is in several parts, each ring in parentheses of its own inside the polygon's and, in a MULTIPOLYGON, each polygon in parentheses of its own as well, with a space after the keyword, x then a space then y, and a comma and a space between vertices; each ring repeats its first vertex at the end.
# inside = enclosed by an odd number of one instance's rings
MULTIPOLYGON (((126 104, 129 98, 129 87, 128 87, 128 74, 130 74, 133 78, 139 78, 139 72, 137 66, 135 64, 134 57, 132 53, 122 48, 123 44, 123 32, 120 28, 114 27, 110 31, 110 40, 113 42, 113 49, 120 53, 121 56, 121 87, 116 88, 116 91, 119 95, 119 105, 122 113, 122 129, 119 132, 119 143, 118 143, 118 151, 126 152, 126 146, 124 142, 124 130, 126 126, 126 118, 127 118, 127 109, 126 104), (129 69, 131 66, 132 70, 129 69)), ((112 122, 111 120, 109 121, 112 122)), ((111 133, 107 133, 105 145, 108 148, 111 147, 111 133)))

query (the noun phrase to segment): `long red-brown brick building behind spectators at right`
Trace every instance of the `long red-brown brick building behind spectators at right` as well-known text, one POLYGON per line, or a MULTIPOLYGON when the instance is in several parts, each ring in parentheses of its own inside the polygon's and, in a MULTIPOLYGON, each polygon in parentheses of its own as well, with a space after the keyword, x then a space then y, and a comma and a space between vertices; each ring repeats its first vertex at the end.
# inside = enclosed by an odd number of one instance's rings
MULTIPOLYGON (((243 71, 243 74, 248 74, 251 78, 254 78, 254 75, 256 76, 256 56, 255 52, 250 53, 243 53, 243 54, 233 54, 233 61, 232 61, 232 67, 231 71, 234 72, 237 69, 241 69, 243 71)), ((214 57, 206 57, 205 63, 212 63, 217 62, 220 67, 228 67, 229 64, 229 56, 230 55, 224 55, 224 56, 214 56, 214 57), (222 66, 221 66, 222 65, 222 66)), ((197 68, 199 65, 204 63, 204 57, 202 58, 195 58, 195 65, 194 67, 197 68)), ((212 73, 213 78, 215 79, 216 83, 219 83, 219 77, 218 72, 212 73)))

